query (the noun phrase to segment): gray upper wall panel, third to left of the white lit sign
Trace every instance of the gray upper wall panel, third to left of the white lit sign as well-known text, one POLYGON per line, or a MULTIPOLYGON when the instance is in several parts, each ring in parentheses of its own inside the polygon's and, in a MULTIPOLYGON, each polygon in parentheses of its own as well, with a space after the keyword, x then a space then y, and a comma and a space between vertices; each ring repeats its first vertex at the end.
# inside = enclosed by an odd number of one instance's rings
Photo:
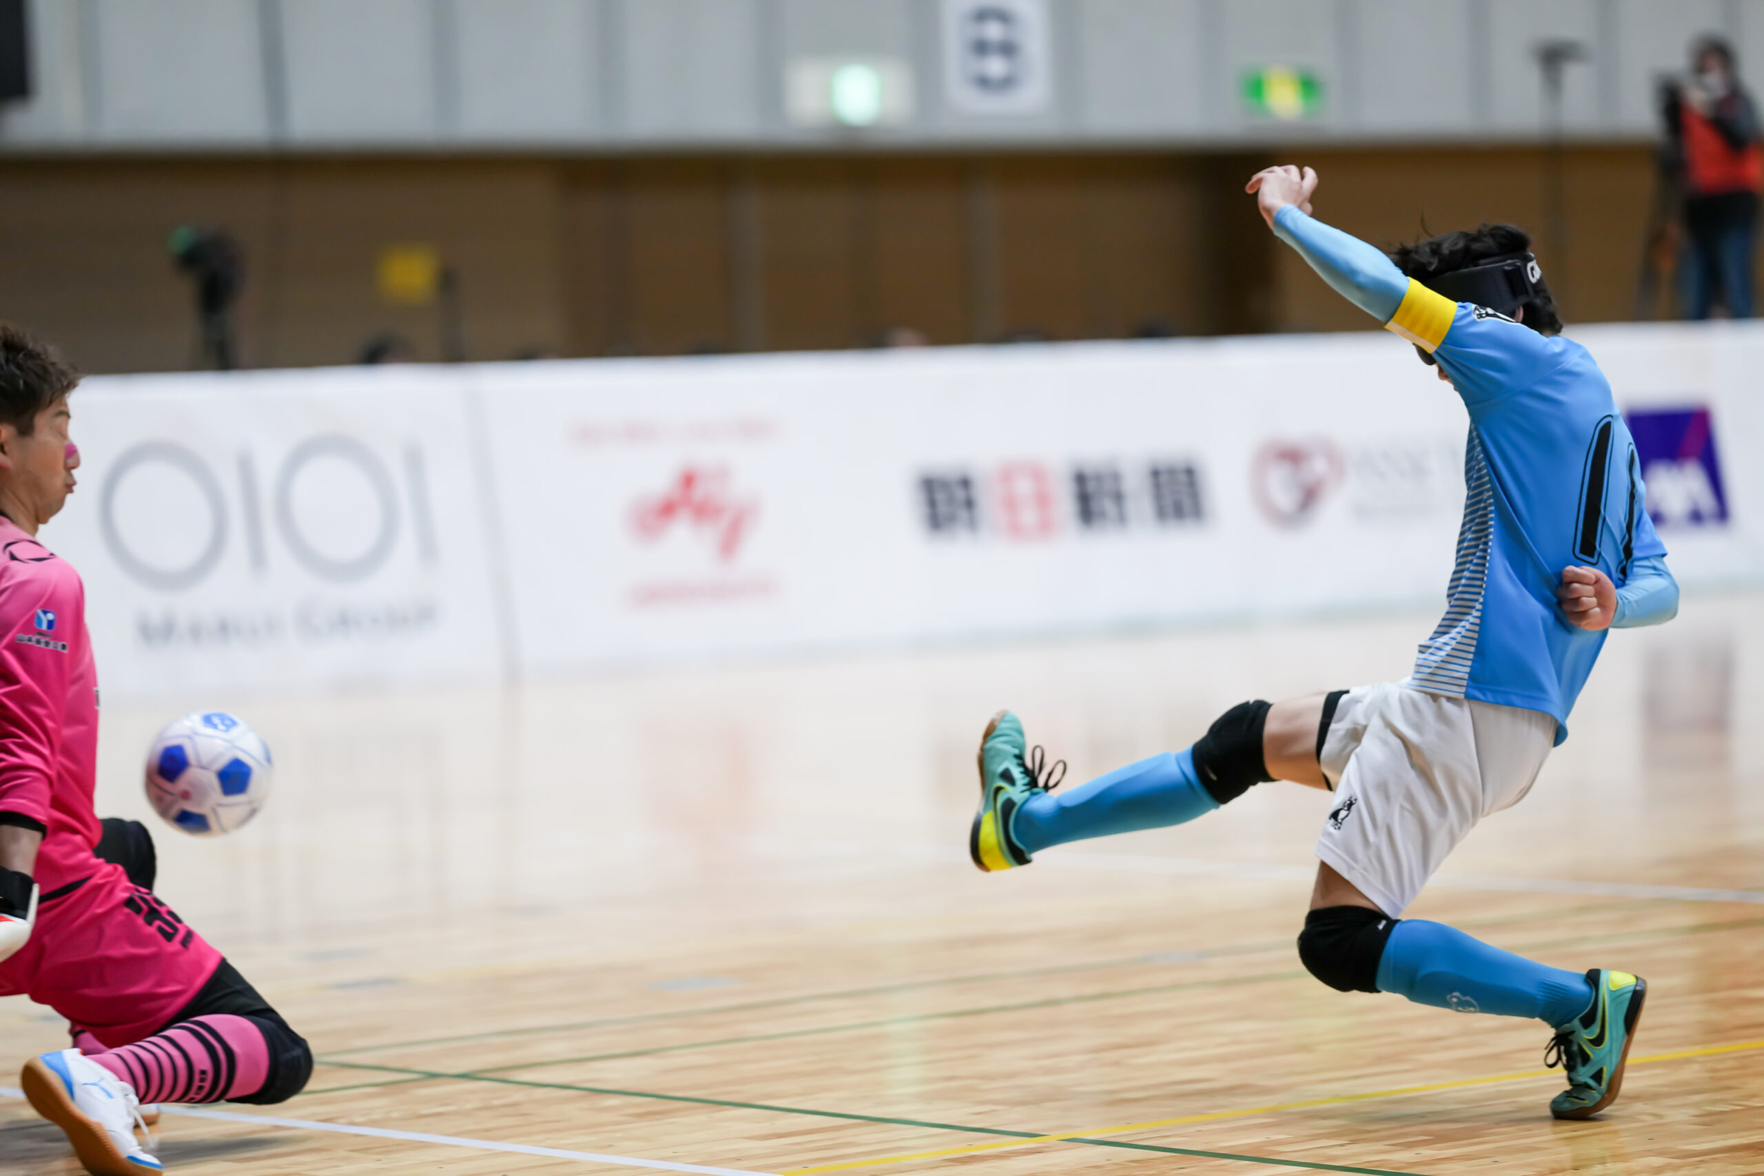
POLYGON ((280 12, 293 139, 434 141, 429 0, 282 0, 280 12))

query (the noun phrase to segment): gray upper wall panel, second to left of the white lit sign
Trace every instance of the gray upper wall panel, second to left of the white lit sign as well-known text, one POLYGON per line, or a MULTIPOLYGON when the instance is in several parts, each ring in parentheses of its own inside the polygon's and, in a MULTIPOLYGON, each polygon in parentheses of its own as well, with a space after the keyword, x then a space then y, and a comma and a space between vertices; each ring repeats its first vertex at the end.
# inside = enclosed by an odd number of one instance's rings
POLYGON ((587 139, 602 132, 600 0, 453 4, 462 139, 587 139))

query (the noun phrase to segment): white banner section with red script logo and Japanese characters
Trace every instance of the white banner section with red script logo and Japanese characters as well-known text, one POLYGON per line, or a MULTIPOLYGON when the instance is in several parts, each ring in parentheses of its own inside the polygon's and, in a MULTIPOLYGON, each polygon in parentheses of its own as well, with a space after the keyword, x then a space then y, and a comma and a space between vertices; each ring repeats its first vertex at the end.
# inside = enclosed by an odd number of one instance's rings
POLYGON ((1462 409, 1418 367, 1281 340, 489 368, 519 661, 1443 591, 1462 409))

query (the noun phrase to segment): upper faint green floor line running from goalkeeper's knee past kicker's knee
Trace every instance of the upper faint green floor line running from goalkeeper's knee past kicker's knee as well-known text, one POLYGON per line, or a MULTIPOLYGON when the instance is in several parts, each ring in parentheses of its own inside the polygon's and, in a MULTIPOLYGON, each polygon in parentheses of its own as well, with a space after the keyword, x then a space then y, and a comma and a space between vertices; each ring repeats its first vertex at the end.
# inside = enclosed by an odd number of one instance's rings
MULTIPOLYGON (((1459 926, 1466 929, 1482 927, 1505 927, 1512 924, 1540 922, 1545 919, 1566 919, 1584 912, 1605 912, 1612 906, 1644 906, 1651 903, 1667 903, 1671 899, 1616 899, 1609 903, 1591 903, 1586 906, 1570 906, 1568 910, 1538 912, 1528 915, 1505 915, 1501 919, 1478 919, 1466 920, 1459 926)), ((1291 940, 1267 940, 1261 943, 1238 943, 1235 947, 1215 947, 1201 949, 1192 952, 1194 963, 1205 959, 1219 959, 1228 956, 1254 956, 1259 952, 1275 952, 1291 947, 1291 940)), ((561 1024, 534 1024, 520 1030, 490 1030, 485 1033, 459 1033, 453 1037, 425 1037, 411 1042, 390 1042, 385 1046, 353 1046, 349 1049, 335 1049, 326 1053, 326 1058, 348 1058, 363 1053, 393 1053, 399 1049, 423 1049, 429 1046, 462 1046, 469 1042, 490 1042, 506 1040, 512 1037, 536 1037, 536 1035, 556 1035, 556 1033, 573 1033, 579 1030, 598 1030, 621 1024, 646 1024, 654 1021, 677 1021, 683 1017, 714 1017, 727 1012, 751 1012, 755 1009, 781 1009, 789 1005, 808 1005, 817 1001, 831 1000, 852 1000, 859 996, 891 996, 894 993, 912 993, 919 989, 931 987, 954 987, 958 984, 984 984, 988 980, 1021 980, 1044 975, 1062 975, 1073 971, 1106 971, 1110 968, 1127 968, 1132 964, 1155 963, 1150 956, 1157 952, 1147 952, 1143 956, 1124 956, 1118 959, 1090 961, 1081 964, 1051 964, 1041 968, 1016 968, 1009 971, 981 971, 960 977, 938 977, 933 980, 901 980, 900 984, 880 984, 873 987, 854 987, 854 989, 834 989, 831 993, 803 993, 797 996, 769 996, 766 1000, 739 1001, 734 1005, 709 1005, 706 1009, 670 1009, 665 1012, 633 1012, 621 1017, 596 1017, 591 1021, 564 1021, 561 1024)))

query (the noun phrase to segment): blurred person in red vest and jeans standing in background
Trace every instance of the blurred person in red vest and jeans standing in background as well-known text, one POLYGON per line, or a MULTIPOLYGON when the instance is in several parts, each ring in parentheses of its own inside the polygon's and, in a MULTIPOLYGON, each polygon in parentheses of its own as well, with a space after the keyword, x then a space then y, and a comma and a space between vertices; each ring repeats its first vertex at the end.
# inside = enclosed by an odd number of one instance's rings
POLYGON ((1665 90, 1665 129, 1685 192, 1683 312, 1706 319, 1716 296, 1736 319, 1752 317, 1752 247, 1764 189, 1764 152, 1752 97, 1739 88, 1734 51, 1704 37, 1692 76, 1665 90))

